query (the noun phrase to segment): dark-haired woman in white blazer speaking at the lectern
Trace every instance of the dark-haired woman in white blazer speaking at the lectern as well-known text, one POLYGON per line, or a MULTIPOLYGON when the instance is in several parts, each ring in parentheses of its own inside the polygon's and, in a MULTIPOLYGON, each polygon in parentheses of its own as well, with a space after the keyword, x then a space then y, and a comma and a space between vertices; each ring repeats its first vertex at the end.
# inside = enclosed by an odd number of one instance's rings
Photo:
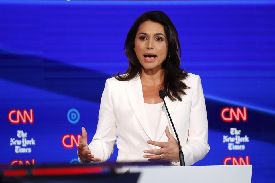
POLYGON ((208 124, 200 77, 181 69, 180 45, 171 20, 161 11, 146 12, 131 27, 124 46, 129 68, 107 79, 97 131, 78 148, 79 161, 106 161, 118 137, 117 162, 170 160, 179 164, 178 144, 158 91, 165 98, 186 165, 209 151, 208 124))

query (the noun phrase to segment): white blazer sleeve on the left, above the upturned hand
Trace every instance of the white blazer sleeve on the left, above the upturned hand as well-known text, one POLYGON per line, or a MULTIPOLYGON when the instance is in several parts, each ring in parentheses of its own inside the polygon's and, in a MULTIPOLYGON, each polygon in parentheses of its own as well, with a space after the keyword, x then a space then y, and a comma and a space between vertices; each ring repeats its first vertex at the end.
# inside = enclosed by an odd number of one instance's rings
MULTIPOLYGON (((114 152, 115 140, 117 138, 116 129, 110 81, 107 79, 100 102, 97 130, 92 142, 89 144, 91 154, 95 158, 100 158, 100 162, 108 160, 114 152)), ((84 163, 79 156, 78 160, 80 163, 84 163)))

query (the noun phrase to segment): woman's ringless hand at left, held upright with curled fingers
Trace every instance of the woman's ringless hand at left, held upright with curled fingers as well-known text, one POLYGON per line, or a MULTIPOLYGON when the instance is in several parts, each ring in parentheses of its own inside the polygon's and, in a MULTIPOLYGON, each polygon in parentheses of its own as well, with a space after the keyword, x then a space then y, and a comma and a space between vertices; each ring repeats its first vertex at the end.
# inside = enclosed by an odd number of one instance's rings
POLYGON ((86 140, 87 132, 84 127, 81 128, 81 138, 78 146, 78 154, 82 160, 85 161, 101 161, 100 158, 95 158, 88 148, 88 143, 86 140))

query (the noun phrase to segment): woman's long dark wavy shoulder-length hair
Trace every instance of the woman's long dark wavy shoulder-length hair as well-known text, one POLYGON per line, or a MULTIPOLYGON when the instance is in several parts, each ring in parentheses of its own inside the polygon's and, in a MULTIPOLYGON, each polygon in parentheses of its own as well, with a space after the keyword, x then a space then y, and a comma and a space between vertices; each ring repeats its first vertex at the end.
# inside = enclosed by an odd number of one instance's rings
POLYGON ((169 17, 162 11, 149 11, 137 18, 124 44, 124 52, 129 59, 129 68, 123 75, 119 75, 121 73, 119 72, 113 76, 119 81, 129 81, 141 72, 142 65, 134 53, 135 36, 140 24, 148 20, 158 22, 164 26, 168 41, 168 55, 162 63, 162 68, 164 68, 163 87, 172 101, 176 100, 175 98, 182 101, 180 95, 186 95, 184 90, 189 88, 182 80, 188 76, 188 73, 180 68, 181 50, 177 30, 169 17))

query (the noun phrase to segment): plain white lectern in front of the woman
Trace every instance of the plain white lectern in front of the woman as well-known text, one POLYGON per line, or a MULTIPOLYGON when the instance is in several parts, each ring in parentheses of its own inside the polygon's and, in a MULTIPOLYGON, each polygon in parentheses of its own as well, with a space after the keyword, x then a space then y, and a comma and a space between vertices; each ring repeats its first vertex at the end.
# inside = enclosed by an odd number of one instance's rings
POLYGON ((131 167, 138 183, 251 183, 252 165, 131 167))

